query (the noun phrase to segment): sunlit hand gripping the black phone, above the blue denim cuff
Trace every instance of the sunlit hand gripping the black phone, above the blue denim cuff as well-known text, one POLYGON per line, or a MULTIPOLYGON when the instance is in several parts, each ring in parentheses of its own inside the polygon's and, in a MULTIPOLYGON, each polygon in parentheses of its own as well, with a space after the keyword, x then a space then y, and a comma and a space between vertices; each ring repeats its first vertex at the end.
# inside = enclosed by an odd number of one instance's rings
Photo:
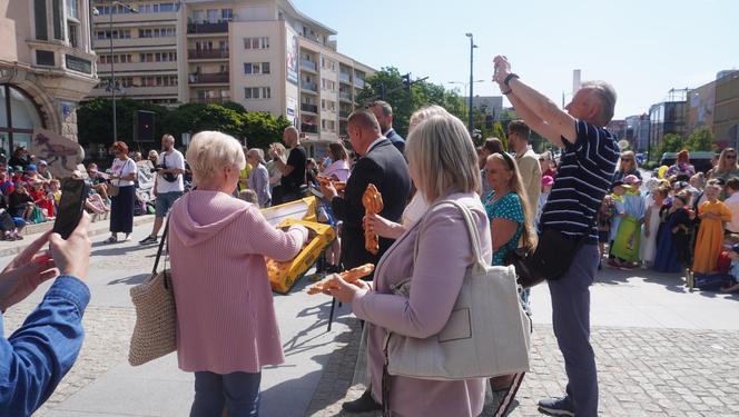
POLYGON ((49 238, 51 257, 62 275, 71 275, 79 279, 87 278, 90 268, 90 239, 87 237, 89 226, 90 217, 83 214, 79 225, 67 240, 62 239, 59 234, 52 234, 49 238))

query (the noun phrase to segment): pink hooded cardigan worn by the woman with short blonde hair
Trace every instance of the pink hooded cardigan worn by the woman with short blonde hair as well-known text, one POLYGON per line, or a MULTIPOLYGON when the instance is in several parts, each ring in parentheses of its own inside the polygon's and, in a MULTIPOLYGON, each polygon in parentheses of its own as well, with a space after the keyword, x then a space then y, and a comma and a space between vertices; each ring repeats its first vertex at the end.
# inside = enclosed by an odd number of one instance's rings
POLYGON ((168 248, 180 369, 258 373, 285 360, 264 257, 292 259, 306 238, 224 192, 190 191, 175 202, 168 248))

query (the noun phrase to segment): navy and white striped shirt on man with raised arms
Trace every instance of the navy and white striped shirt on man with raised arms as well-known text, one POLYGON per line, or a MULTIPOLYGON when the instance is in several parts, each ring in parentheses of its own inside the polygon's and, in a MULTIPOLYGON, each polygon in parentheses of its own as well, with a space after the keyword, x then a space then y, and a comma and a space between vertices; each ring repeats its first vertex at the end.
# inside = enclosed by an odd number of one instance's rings
POLYGON ((541 225, 579 238, 590 229, 588 244, 598 244, 593 218, 611 187, 619 150, 603 128, 575 121, 574 143, 563 139, 564 150, 556 178, 541 215, 541 225))

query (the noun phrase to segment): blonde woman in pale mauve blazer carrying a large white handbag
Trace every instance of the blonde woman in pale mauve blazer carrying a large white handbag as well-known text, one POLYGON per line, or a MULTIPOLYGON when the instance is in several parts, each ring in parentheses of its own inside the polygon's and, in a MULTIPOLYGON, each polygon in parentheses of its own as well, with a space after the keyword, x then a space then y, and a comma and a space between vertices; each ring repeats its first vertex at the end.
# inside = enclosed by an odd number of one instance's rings
MULTIPOLYGON (((470 135, 454 116, 435 116, 418 125, 405 148, 411 178, 431 206, 455 200, 474 216, 485 261, 492 258, 490 224, 475 193, 480 172, 470 135)), ((346 284, 334 276, 339 301, 352 302, 354 314, 370 326, 368 371, 372 397, 383 391, 383 339, 386 331, 426 338, 441 331, 452 314, 465 270, 472 265, 472 247, 462 212, 449 205, 432 207, 406 230, 375 269, 372 286, 346 284), (413 249, 418 241, 418 255, 413 249), (408 299, 393 295, 391 286, 412 278, 408 299)), ((485 397, 485 379, 425 380, 391 376, 387 407, 394 416, 479 416, 485 397)))

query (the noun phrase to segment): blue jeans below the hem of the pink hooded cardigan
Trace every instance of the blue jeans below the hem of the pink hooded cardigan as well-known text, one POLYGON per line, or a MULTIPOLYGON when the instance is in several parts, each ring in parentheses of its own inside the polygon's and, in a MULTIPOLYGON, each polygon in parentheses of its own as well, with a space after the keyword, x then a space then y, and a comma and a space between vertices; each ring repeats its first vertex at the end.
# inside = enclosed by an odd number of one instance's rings
POLYGON ((195 373, 195 400, 190 417, 220 416, 224 406, 228 417, 259 415, 262 373, 195 373))

